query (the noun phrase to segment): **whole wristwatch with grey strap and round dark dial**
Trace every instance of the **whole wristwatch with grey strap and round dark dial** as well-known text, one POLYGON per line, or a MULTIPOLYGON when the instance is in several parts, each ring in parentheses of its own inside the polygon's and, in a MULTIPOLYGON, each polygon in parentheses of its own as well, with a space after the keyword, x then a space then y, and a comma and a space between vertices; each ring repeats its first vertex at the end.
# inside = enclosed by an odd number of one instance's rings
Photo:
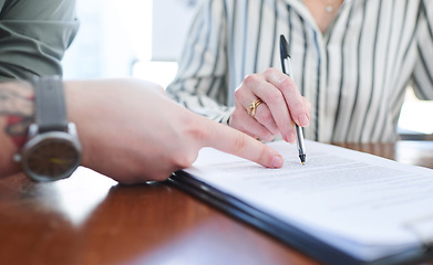
POLYGON ((68 178, 80 166, 82 148, 75 125, 68 121, 62 81, 59 76, 34 77, 31 84, 35 119, 14 160, 34 181, 68 178))

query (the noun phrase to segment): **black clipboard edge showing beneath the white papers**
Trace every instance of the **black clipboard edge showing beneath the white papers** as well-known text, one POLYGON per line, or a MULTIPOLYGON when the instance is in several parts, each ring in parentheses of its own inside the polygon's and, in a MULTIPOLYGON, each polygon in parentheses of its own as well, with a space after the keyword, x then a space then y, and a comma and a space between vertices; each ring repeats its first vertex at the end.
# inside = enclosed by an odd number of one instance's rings
POLYGON ((315 235, 269 215, 248 203, 204 183, 185 171, 177 171, 167 180, 172 184, 220 211, 257 227, 291 247, 332 265, 405 265, 433 259, 433 245, 408 250, 375 261, 361 261, 323 242, 315 235))

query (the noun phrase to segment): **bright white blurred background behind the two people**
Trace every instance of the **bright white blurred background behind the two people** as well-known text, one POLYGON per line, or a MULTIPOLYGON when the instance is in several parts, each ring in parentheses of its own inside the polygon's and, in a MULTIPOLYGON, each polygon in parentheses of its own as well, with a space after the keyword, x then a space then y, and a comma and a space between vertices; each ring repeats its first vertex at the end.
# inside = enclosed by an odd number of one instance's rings
MULTIPOLYGON (((134 76, 165 87, 200 1, 76 0, 81 26, 63 60, 64 78, 134 76)), ((409 89, 399 121, 403 139, 432 137, 429 114, 433 103, 417 100, 409 89)))

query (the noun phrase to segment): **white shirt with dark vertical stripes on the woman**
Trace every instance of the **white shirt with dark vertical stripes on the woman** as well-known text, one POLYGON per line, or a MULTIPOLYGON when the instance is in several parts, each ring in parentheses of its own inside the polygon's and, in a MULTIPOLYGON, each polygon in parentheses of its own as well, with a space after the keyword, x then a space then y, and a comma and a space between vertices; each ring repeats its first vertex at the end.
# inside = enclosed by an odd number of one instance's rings
POLYGON ((205 0, 168 95, 227 124, 244 77, 281 68, 280 34, 312 105, 308 139, 393 141, 406 87, 433 99, 432 0, 346 0, 323 33, 301 0, 205 0))

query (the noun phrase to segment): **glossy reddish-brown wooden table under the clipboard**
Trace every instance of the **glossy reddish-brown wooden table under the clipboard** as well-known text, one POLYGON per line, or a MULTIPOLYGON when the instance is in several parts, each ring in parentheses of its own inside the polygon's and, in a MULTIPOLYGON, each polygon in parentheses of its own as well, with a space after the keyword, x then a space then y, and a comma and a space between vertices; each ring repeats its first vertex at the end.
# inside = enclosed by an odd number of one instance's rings
MULTIPOLYGON (((433 168, 433 141, 342 145, 433 168)), ((0 180, 0 264, 319 264, 163 183, 0 180)))

